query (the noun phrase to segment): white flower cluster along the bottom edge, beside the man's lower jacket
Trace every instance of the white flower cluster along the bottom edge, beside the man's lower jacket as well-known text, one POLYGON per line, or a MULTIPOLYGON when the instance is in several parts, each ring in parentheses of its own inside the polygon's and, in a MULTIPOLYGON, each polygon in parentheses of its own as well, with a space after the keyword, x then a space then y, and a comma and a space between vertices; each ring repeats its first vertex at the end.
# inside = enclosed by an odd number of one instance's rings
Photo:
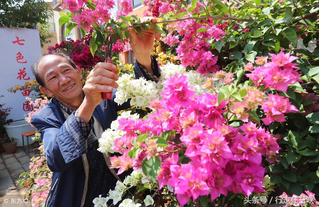
MULTIPOLYGON (((101 197, 101 195, 98 198, 93 199, 94 207, 108 207, 106 202, 108 202, 109 199, 113 200, 113 204, 115 205, 119 201, 122 200, 122 197, 125 193, 125 190, 127 190, 130 186, 135 186, 139 182, 142 182, 143 184, 146 182, 149 182, 145 175, 142 173, 141 169, 134 170, 130 175, 126 176, 124 179, 124 182, 117 181, 116 186, 114 190, 110 190, 108 192, 108 196, 106 198, 101 197)), ((133 197, 134 199, 134 197, 133 197)), ((154 200, 151 196, 146 196, 144 200, 145 206, 152 205, 154 203, 154 200)), ((124 199, 122 203, 119 205, 119 207, 139 207, 141 204, 134 203, 131 199, 124 199)))

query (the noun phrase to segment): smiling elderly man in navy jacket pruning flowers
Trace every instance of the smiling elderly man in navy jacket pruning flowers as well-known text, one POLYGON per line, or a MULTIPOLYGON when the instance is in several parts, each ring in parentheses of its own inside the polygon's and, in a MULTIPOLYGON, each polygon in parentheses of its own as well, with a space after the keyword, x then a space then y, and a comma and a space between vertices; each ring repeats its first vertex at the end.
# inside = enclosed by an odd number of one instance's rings
MULTIPOLYGON (((137 58, 136 78, 156 81, 160 72, 150 51, 159 33, 150 29, 139 36, 130 28, 129 32, 137 58)), ((116 112, 130 107, 129 103, 114 103, 119 71, 111 63, 97 63, 82 90, 80 68, 63 53, 42 56, 32 70, 40 90, 53 96, 31 120, 41 133, 48 167, 53 172, 45 207, 94 206, 95 197, 107 196, 125 177, 116 175, 109 168, 109 156, 97 151, 98 139, 117 118, 116 112), (101 92, 112 91, 112 99, 103 109, 101 92)))

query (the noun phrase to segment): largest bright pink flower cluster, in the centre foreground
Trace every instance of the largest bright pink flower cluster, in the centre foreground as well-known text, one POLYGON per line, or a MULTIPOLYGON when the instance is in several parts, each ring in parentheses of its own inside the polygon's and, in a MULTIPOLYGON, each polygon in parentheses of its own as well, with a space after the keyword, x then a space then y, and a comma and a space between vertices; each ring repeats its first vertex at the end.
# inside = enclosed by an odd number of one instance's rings
POLYGON ((120 168, 121 173, 131 167, 140 168, 145 157, 159 156, 159 187, 173 187, 181 205, 190 197, 195 200, 207 194, 213 200, 219 194, 227 195, 228 190, 245 196, 263 192, 262 155, 270 156, 271 151, 279 150, 277 139, 252 122, 238 128, 226 125, 223 113, 229 101, 218 104, 217 94, 195 96, 186 76, 175 74, 163 84, 162 99, 153 100, 156 111, 148 119, 119 120, 119 129, 126 134, 115 140, 115 150, 123 155, 111 158, 113 167, 120 168), (181 143, 168 139, 170 146, 158 151, 158 138, 150 137, 166 130, 175 130, 181 143), (138 142, 139 133, 151 134, 138 142), (132 147, 137 149, 137 157, 128 156, 132 147), (190 158, 188 163, 181 164, 179 151, 190 158))

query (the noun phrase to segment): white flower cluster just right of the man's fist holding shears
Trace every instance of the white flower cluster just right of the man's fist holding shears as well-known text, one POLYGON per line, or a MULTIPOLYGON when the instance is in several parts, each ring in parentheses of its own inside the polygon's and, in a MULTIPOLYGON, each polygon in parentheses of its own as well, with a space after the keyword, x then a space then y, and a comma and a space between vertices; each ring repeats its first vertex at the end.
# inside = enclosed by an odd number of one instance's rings
POLYGON ((146 108, 151 103, 152 99, 158 96, 156 83, 146 81, 144 78, 131 80, 132 75, 122 75, 117 84, 119 85, 115 93, 114 101, 122 105, 129 98, 131 98, 130 105, 146 108))

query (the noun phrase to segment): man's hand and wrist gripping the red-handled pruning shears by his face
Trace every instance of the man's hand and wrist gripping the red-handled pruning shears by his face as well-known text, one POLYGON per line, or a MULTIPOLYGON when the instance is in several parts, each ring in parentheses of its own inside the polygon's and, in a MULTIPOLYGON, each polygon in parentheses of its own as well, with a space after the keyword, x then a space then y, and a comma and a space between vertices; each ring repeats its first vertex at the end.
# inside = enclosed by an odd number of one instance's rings
POLYGON ((83 87, 85 98, 78 109, 80 118, 88 123, 92 113, 102 100, 102 92, 112 92, 118 87, 115 82, 119 79, 119 70, 116 65, 108 62, 99 62, 87 76, 83 87))

